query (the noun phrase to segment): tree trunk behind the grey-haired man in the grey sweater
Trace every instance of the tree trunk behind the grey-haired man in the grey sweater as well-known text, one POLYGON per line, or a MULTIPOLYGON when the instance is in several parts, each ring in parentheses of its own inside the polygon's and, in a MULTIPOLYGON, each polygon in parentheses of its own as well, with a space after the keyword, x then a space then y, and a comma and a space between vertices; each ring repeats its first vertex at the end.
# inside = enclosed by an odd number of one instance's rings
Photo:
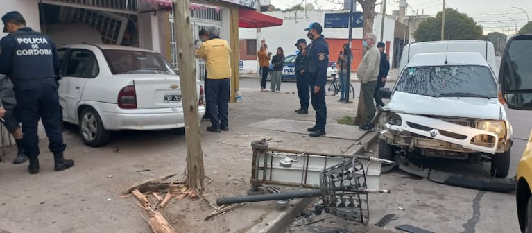
MULTIPOLYGON (((360 3, 360 5, 362 6, 362 17, 364 21, 362 37, 364 37, 368 33, 373 32, 373 20, 375 18, 375 1, 376 0, 357 0, 357 2, 360 3)), ((361 126, 364 123, 366 123, 366 106, 364 105, 364 96, 362 94, 361 88, 359 93, 359 105, 357 107, 357 116, 354 117, 354 124, 357 126, 361 126)))

